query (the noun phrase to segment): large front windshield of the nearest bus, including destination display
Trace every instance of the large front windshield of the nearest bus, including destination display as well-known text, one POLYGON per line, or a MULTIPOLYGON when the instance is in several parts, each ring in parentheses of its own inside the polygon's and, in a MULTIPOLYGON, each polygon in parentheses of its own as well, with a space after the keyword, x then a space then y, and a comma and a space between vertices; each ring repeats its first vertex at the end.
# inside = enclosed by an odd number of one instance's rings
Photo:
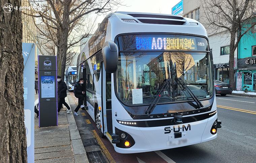
POLYGON ((151 104, 166 80, 170 81, 158 103, 192 100, 187 89, 200 100, 212 95, 211 56, 207 52, 206 39, 178 35, 125 35, 118 37, 117 41, 117 93, 124 103, 151 104))

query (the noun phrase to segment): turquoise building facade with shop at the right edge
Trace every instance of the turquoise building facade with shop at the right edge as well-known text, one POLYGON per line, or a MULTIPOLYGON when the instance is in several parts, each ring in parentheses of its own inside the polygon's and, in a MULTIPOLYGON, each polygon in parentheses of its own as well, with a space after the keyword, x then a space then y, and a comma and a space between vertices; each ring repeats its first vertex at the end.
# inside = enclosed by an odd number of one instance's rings
MULTIPOLYGON (((245 24, 249 27, 250 24, 245 24)), ((237 90, 256 90, 256 26, 246 33, 238 43, 237 90), (249 87, 249 88, 248 88, 249 87)))

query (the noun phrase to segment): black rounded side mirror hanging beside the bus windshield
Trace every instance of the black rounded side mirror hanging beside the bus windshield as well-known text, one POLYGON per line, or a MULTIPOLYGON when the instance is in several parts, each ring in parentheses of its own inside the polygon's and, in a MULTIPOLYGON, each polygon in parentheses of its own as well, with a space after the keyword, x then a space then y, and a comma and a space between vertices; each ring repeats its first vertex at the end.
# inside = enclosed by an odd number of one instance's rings
POLYGON ((102 47, 103 63, 107 73, 115 73, 118 63, 118 48, 114 41, 106 41, 102 47))

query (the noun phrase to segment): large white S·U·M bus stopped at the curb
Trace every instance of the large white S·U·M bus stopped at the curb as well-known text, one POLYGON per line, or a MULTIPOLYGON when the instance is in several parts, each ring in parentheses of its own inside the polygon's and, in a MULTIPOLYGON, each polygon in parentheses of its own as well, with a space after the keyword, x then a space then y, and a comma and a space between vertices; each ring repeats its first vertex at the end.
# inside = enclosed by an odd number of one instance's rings
POLYGON ((213 57, 194 19, 110 13, 80 53, 77 72, 88 114, 118 153, 209 141, 221 127, 213 57))

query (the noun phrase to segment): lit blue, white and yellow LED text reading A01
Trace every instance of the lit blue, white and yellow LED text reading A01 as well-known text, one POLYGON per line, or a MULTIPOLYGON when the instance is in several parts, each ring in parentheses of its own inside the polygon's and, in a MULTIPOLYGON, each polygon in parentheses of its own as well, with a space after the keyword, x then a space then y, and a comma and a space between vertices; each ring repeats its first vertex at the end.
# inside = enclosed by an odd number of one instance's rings
POLYGON ((137 50, 197 50, 196 44, 205 46, 195 38, 136 37, 137 50))

